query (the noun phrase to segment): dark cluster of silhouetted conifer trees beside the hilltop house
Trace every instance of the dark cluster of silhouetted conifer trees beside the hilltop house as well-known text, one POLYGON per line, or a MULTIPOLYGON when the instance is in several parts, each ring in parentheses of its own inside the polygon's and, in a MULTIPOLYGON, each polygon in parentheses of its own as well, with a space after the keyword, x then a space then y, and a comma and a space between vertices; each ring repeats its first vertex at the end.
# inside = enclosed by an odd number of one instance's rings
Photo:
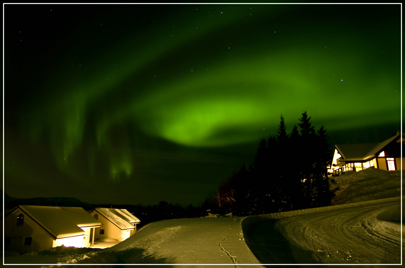
POLYGON ((277 134, 262 138, 254 163, 222 181, 205 200, 212 213, 249 216, 330 205, 328 136, 304 111, 290 133, 280 117, 277 134))

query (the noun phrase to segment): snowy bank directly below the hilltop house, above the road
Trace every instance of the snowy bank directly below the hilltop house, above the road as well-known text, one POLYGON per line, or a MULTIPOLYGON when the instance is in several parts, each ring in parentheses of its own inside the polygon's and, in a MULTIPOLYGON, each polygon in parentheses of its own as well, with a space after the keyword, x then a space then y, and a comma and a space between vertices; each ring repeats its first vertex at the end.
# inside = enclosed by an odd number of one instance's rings
POLYGON ((367 200, 391 198, 401 195, 401 171, 367 168, 358 172, 345 172, 335 177, 338 187, 332 205, 349 204, 367 200))

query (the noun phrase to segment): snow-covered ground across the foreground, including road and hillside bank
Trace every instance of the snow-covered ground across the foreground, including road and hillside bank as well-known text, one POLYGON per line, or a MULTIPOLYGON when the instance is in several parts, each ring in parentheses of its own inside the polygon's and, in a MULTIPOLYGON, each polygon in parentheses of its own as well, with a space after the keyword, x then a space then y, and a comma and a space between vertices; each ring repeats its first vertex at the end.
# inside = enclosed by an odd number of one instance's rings
POLYGON ((158 221, 145 225, 130 238, 109 248, 58 247, 5 257, 4 262, 399 264, 399 174, 370 169, 339 176, 336 181, 341 190, 335 201, 340 204, 335 206, 252 217, 158 221), (386 198, 387 195, 396 197, 386 198), (367 201, 358 202, 359 199, 367 201))

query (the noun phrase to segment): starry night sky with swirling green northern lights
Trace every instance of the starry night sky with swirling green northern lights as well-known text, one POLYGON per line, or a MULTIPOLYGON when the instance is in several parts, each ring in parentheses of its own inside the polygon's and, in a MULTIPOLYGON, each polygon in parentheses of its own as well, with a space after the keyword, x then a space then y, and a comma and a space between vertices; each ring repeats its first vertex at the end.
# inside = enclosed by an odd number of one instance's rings
POLYGON ((332 145, 400 130, 401 5, 4 6, 10 196, 197 205, 304 110, 332 145))

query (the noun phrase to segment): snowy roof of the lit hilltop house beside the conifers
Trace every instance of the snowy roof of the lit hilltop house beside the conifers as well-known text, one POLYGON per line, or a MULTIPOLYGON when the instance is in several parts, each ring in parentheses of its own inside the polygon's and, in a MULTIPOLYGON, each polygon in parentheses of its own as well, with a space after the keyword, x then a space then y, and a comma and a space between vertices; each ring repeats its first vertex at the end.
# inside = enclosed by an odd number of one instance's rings
POLYGON ((337 151, 346 161, 367 160, 395 140, 399 134, 384 140, 382 143, 360 143, 360 144, 340 144, 335 145, 337 151))

